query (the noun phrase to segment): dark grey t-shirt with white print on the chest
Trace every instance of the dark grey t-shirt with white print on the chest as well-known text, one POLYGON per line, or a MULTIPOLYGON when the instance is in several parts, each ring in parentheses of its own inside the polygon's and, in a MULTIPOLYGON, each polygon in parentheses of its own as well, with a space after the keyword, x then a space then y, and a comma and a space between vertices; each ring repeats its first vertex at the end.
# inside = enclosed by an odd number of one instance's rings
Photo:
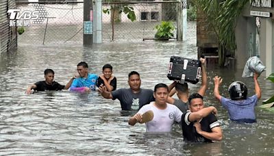
POLYGON ((112 100, 119 99, 122 110, 138 110, 143 105, 155 101, 153 97, 153 90, 142 89, 140 92, 133 93, 130 88, 121 88, 111 92, 112 100))

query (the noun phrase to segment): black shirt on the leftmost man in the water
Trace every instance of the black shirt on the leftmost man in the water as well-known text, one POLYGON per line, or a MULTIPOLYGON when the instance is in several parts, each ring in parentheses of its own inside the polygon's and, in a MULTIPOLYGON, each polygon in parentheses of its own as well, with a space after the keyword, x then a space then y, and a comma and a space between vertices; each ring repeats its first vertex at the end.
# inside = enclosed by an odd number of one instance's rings
POLYGON ((46 81, 38 81, 34 83, 36 91, 47 91, 47 90, 62 90, 64 89, 63 85, 60 85, 58 82, 53 81, 51 85, 47 84, 46 81))

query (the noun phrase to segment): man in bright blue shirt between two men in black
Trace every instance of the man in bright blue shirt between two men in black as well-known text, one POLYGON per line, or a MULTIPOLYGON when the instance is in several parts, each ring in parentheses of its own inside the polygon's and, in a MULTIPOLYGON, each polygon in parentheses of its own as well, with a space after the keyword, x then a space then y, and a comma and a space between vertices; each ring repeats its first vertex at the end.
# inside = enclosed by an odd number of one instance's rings
POLYGON ((97 75, 88 73, 88 64, 86 62, 79 62, 77 64, 77 72, 79 76, 73 80, 71 84, 71 91, 73 92, 90 92, 95 90, 97 75))

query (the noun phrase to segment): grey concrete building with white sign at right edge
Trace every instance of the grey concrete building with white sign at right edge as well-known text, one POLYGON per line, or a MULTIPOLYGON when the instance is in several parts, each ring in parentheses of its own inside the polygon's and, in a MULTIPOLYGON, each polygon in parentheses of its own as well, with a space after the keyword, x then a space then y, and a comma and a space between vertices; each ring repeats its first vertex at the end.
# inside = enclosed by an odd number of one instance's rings
POLYGON ((242 68, 250 56, 258 55, 266 66, 263 76, 274 73, 273 1, 255 0, 247 4, 236 24, 236 66, 242 68))

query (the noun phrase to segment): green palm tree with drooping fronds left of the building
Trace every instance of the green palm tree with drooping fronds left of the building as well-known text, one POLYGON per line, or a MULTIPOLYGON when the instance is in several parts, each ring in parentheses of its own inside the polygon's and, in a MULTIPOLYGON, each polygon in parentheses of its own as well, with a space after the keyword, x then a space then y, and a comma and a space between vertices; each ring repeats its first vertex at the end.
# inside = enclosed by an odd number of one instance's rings
POLYGON ((236 49, 235 27, 237 17, 249 0, 192 0, 208 16, 208 23, 218 40, 219 66, 225 64, 227 51, 236 49))

